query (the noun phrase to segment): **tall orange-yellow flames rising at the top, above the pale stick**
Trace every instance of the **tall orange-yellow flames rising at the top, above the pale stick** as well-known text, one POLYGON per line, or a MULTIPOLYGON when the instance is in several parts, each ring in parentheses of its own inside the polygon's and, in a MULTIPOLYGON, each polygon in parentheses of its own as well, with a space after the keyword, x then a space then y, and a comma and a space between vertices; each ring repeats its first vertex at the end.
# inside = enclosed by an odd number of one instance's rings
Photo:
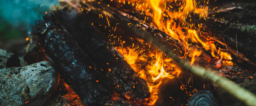
MULTIPOLYGON (((220 52, 218 53, 219 55, 217 55, 216 45, 212 42, 202 41, 198 36, 197 31, 191 29, 191 27, 195 27, 194 24, 186 22, 186 19, 190 16, 189 12, 200 14, 200 17, 206 17, 208 11, 207 7, 197 8, 194 0, 184 0, 183 6, 181 6, 178 11, 172 12, 171 10, 166 9, 166 4, 164 4, 166 1, 168 0, 149 0, 153 10, 153 24, 172 38, 184 42, 184 51, 188 51, 184 55, 190 53, 189 55, 192 57, 191 64, 195 61, 195 57, 200 56, 202 52, 190 48, 187 42, 188 38, 191 38, 192 42, 201 44, 205 50, 210 51, 212 57, 220 56, 220 58, 228 58, 227 60, 229 61, 227 63, 232 64, 232 61, 230 61, 232 60, 232 57, 229 53, 220 52), (177 19, 182 21, 177 23, 177 19), (187 25, 187 27, 184 27, 184 24, 187 25)), ((200 28, 200 26, 198 27, 200 28)))

